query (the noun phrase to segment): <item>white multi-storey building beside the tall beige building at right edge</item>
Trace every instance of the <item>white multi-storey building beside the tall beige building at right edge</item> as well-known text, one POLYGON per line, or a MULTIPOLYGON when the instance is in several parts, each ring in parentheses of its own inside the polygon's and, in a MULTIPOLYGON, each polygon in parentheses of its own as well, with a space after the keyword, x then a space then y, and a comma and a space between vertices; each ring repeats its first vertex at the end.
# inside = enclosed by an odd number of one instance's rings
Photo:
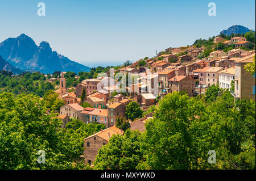
POLYGON ((231 81, 234 80, 235 68, 229 68, 220 71, 219 73, 219 85, 223 89, 230 89, 231 88, 231 81))

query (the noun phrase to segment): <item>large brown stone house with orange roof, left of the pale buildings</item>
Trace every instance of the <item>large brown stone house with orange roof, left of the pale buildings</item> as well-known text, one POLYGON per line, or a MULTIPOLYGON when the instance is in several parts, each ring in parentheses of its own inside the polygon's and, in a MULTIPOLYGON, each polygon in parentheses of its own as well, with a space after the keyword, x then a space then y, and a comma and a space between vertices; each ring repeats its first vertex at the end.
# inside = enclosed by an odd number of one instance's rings
POLYGON ((174 91, 185 91, 188 96, 193 96, 193 94, 195 94, 195 80, 190 77, 187 77, 185 75, 177 75, 168 79, 168 82, 170 85, 170 93, 174 91))

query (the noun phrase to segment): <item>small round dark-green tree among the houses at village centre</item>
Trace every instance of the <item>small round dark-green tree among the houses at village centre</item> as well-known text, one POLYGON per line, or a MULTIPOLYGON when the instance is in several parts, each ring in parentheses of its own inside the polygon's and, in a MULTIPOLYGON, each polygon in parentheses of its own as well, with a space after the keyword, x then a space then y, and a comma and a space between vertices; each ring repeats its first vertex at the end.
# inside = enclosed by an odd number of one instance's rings
POLYGON ((130 102, 126 107, 125 115, 131 121, 133 121, 134 119, 136 119, 138 117, 141 117, 142 110, 139 107, 139 104, 137 104, 136 102, 130 102))

